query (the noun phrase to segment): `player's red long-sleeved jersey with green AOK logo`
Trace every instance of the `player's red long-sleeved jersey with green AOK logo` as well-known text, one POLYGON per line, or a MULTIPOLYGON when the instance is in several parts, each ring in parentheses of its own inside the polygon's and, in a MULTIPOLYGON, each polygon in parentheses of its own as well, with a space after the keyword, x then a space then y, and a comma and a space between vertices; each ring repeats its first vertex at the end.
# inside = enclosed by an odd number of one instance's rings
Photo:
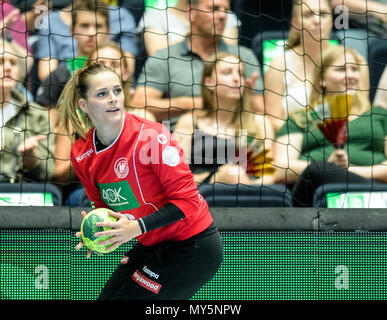
POLYGON ((125 113, 120 134, 109 147, 97 151, 95 134, 92 128, 86 139, 74 143, 71 162, 96 208, 110 208, 137 220, 171 202, 185 215, 140 235, 140 243, 185 240, 211 225, 207 202, 165 126, 125 113))

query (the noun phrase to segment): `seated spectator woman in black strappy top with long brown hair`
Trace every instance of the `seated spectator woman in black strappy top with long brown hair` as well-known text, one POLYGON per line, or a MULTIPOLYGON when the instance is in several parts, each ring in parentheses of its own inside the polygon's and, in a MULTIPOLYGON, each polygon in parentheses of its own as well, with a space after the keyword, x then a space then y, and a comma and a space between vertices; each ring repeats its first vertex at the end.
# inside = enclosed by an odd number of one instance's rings
MULTIPOLYGON (((227 184, 272 183, 272 176, 261 178, 247 172, 243 139, 253 153, 270 151, 274 132, 262 115, 246 111, 251 90, 246 87, 243 65, 238 56, 218 52, 204 64, 203 109, 182 115, 173 135, 182 147, 195 182, 227 184)), ((245 144, 246 147, 246 144, 245 144)), ((246 150, 246 149, 245 149, 246 150)), ((263 159, 265 160, 265 159, 263 159)), ((262 163, 261 163, 262 166, 262 163)))

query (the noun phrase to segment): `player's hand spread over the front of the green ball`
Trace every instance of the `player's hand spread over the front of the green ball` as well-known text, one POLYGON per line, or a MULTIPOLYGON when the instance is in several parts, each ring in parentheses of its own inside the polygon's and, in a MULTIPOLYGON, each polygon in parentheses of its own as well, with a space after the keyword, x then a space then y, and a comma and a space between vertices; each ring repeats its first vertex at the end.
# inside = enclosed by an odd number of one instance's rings
POLYGON ((111 238, 100 241, 98 244, 107 245, 111 244, 109 249, 115 249, 121 244, 132 240, 142 234, 140 225, 137 220, 129 220, 123 214, 119 212, 110 211, 109 214, 116 217, 118 220, 115 222, 98 222, 97 227, 110 227, 111 230, 96 232, 95 237, 112 236, 111 238))

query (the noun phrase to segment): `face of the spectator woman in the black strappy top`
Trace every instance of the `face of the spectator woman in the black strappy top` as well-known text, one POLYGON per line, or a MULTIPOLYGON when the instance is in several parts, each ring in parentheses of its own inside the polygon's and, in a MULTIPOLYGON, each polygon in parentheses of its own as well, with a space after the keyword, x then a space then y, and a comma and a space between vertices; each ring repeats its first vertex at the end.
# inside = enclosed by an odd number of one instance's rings
POLYGON ((237 57, 225 57, 216 63, 211 77, 206 79, 205 84, 211 90, 215 90, 217 100, 239 100, 245 89, 243 65, 237 57))

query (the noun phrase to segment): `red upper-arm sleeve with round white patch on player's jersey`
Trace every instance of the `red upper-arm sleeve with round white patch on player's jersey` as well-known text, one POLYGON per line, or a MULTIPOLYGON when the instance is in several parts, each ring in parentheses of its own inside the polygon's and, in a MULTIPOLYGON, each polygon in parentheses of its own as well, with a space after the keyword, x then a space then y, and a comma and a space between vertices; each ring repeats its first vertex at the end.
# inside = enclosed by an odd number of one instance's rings
POLYGON ((183 150, 171 132, 157 124, 146 129, 145 139, 150 144, 150 162, 158 177, 168 202, 176 205, 186 217, 199 210, 199 193, 194 177, 185 161, 183 150))

